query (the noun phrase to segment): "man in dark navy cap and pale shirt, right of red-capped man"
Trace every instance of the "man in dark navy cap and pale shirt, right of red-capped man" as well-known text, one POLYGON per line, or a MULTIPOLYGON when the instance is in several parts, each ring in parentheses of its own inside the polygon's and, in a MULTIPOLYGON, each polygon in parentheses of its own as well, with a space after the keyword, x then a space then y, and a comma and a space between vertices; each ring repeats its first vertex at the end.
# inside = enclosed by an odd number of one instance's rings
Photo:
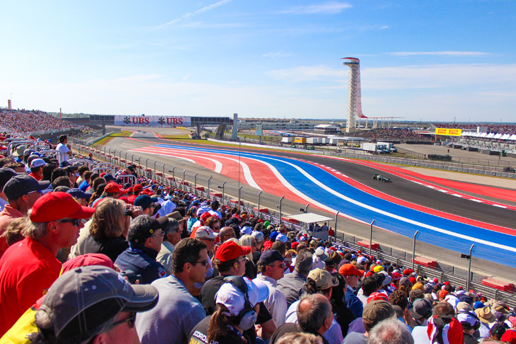
POLYGON ((258 261, 258 277, 253 279, 266 283, 269 288, 269 297, 264 301, 267 309, 277 326, 285 323, 287 313, 287 299, 277 288, 277 281, 283 278, 285 264, 283 256, 278 250, 266 250, 258 261))

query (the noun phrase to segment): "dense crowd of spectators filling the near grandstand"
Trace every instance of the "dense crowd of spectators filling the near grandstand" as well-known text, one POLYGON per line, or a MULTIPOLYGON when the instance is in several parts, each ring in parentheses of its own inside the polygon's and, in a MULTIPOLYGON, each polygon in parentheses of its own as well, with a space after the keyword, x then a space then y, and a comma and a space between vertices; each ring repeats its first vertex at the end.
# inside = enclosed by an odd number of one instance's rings
POLYGON ((0 158, 0 343, 516 343, 473 290, 26 150, 0 158))

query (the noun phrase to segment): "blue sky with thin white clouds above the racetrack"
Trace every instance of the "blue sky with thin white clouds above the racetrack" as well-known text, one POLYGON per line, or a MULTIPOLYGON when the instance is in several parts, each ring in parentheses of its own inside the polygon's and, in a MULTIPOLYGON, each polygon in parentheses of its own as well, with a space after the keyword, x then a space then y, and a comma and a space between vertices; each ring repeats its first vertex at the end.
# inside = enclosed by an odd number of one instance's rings
POLYGON ((0 105, 516 122, 516 1, 6 1, 0 105))

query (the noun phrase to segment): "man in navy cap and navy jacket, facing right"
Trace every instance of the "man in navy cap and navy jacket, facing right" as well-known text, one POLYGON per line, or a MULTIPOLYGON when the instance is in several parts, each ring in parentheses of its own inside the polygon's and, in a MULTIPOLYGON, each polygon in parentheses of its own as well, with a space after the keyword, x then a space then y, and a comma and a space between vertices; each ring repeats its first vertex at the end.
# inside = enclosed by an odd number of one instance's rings
POLYGON ((131 270, 141 275, 140 283, 150 284, 166 277, 165 269, 156 261, 165 235, 162 228, 166 226, 169 226, 168 217, 153 219, 149 215, 140 215, 133 219, 127 232, 129 248, 118 255, 115 265, 122 271, 131 270))

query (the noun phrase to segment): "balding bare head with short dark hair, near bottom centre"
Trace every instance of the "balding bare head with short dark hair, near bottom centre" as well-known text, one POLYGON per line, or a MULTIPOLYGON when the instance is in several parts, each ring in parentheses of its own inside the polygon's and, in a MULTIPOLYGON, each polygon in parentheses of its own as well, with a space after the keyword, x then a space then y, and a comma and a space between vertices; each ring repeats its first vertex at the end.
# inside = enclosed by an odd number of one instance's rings
POLYGON ((297 322, 304 332, 323 336, 332 326, 330 301, 321 294, 304 294, 297 305, 297 322))

